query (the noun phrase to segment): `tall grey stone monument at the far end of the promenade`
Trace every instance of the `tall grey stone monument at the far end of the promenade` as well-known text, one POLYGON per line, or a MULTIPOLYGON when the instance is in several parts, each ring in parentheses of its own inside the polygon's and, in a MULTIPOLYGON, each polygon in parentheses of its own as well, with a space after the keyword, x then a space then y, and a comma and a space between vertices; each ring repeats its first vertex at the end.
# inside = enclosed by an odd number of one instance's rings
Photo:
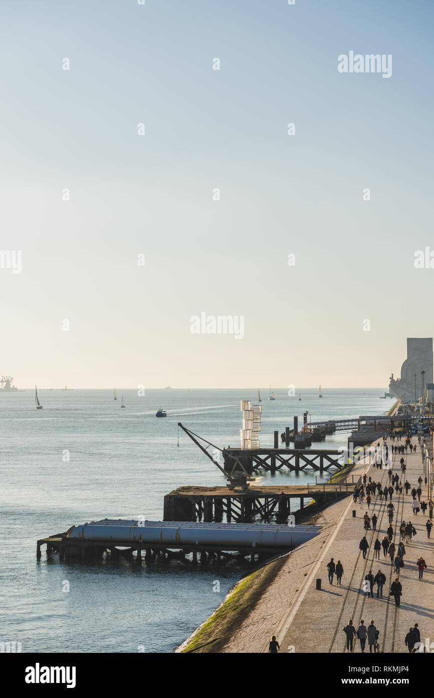
POLYGON ((424 383, 433 383, 433 380, 433 338, 408 337, 401 378, 394 378, 392 373, 390 391, 402 403, 415 403, 423 396, 424 383))

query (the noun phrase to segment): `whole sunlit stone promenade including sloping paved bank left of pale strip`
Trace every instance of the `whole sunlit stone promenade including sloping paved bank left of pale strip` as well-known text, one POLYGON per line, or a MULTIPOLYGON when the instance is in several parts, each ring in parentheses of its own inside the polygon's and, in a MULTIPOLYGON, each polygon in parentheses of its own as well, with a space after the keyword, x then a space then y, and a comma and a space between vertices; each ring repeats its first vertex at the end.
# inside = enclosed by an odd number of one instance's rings
MULTIPOLYGON (((404 440, 394 444, 404 443, 404 440)), ((402 477, 401 454, 392 455, 393 473, 398 473, 402 482, 410 482, 409 493, 405 489, 401 495, 392 496, 394 504, 393 541, 398 547, 401 521, 412 521, 417 535, 409 544, 405 544, 404 567, 401 569, 400 581, 403 587, 401 607, 396 607, 394 597, 389 596, 392 581, 396 578, 389 556, 384 557, 380 550, 380 560, 374 560, 373 544, 378 536, 380 542, 386 535, 389 521, 387 502, 373 496, 371 507, 365 504, 361 510, 359 503, 354 503, 352 496, 327 507, 316 523, 323 524, 323 530, 315 539, 297 548, 288 557, 284 567, 277 573, 276 579, 265 590, 256 607, 240 623, 238 631, 223 648, 223 652, 268 652, 270 635, 275 634, 280 644, 280 652, 295 651, 302 653, 342 653, 346 648, 346 636, 343 628, 352 619, 357 628, 363 618, 365 625, 371 620, 380 632, 378 642, 380 651, 385 653, 406 653, 405 635, 410 626, 419 624, 421 641, 429 638, 434 643, 434 530, 431 540, 426 533, 428 510, 424 516, 420 511, 417 516, 412 513, 412 487, 417 488, 417 479, 423 473, 421 447, 417 452, 404 454, 406 462, 405 477, 402 477), (356 510, 356 517, 352 517, 356 510), (369 550, 363 559, 359 542, 365 535, 363 516, 375 512, 378 517, 377 530, 366 533, 369 550), (424 579, 419 580, 416 560, 423 556, 427 565, 424 579), (343 577, 341 586, 337 586, 336 577, 330 585, 327 575, 327 563, 334 558, 341 560, 343 577), (374 586, 373 598, 364 591, 364 579, 369 570, 373 575, 378 570, 386 576, 383 596, 376 597, 374 586), (321 590, 316 589, 316 578, 322 579, 321 590)), ((389 447, 392 442, 387 439, 389 447)), ((377 469, 366 462, 352 471, 355 474, 371 477, 380 481, 382 487, 389 484, 387 470, 377 469)), ((428 491, 422 483, 421 500, 428 503, 428 491)), ((434 520, 433 520, 434 522, 434 520)), ((433 645, 434 648, 434 645, 433 645)), ((366 645, 369 653, 369 647, 366 645)), ((359 641, 355 641, 354 652, 360 653, 359 641)))

